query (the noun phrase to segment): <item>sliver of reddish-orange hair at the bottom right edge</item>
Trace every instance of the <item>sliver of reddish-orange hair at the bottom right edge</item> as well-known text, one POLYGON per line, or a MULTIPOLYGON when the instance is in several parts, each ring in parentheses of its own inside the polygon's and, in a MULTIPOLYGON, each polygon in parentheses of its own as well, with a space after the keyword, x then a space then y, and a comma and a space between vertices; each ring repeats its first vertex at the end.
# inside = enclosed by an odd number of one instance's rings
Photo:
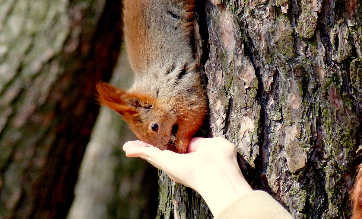
POLYGON ((352 219, 362 218, 362 164, 359 165, 357 180, 352 192, 352 219))

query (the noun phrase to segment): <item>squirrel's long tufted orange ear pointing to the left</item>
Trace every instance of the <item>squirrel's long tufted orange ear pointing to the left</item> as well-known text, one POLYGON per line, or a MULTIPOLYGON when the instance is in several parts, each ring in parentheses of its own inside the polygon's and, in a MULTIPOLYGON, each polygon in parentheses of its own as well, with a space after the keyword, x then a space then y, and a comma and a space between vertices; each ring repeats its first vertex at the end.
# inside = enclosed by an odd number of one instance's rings
POLYGON ((122 116, 126 113, 131 115, 138 113, 134 107, 127 103, 129 96, 127 91, 104 82, 97 83, 96 89, 98 91, 97 100, 102 105, 111 108, 122 116))

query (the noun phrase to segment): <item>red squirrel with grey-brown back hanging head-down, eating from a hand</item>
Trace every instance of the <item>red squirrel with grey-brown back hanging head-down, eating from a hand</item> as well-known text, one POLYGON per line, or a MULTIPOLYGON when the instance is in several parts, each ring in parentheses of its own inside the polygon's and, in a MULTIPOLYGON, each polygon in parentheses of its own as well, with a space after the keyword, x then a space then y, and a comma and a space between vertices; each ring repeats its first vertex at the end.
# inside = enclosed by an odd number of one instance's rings
POLYGON ((186 153, 207 112, 195 58, 194 0, 124 0, 126 50, 135 73, 123 90, 96 84, 100 103, 123 116, 142 141, 186 153))

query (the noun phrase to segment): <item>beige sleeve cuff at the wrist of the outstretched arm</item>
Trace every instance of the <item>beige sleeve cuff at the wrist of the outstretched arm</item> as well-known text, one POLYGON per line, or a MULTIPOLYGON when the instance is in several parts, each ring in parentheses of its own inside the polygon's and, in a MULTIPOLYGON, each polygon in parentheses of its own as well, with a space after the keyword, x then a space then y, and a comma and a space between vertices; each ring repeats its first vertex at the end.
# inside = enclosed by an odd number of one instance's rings
POLYGON ((228 204, 214 219, 292 219, 287 210, 265 191, 251 191, 228 204))

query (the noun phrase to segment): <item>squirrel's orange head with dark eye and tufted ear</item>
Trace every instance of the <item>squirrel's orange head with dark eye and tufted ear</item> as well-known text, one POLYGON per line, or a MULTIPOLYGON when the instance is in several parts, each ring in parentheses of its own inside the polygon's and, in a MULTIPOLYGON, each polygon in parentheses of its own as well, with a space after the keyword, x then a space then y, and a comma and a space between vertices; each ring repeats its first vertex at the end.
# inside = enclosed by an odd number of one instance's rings
POLYGON ((173 144, 177 132, 174 112, 165 110, 149 95, 131 93, 108 83, 98 83, 96 88, 101 104, 121 114, 141 141, 160 149, 173 144))

